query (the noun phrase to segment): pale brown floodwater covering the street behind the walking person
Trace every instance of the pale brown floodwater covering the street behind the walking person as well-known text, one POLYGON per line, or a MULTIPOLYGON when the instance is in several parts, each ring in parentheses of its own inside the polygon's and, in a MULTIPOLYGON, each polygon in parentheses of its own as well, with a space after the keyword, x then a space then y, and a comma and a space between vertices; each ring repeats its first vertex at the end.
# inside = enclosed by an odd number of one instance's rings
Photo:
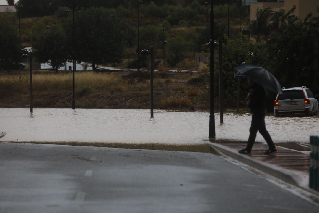
MULTIPOLYGON (((319 135, 319 116, 274 117, 266 115, 266 127, 274 142, 309 143, 319 135)), ((251 114, 224 113, 219 124, 215 113, 218 140, 246 141, 251 114)), ((1 141, 67 142, 109 144, 201 145, 209 132, 209 113, 198 111, 129 109, 0 108, 1 141)), ((258 133, 256 141, 265 142, 258 133)))

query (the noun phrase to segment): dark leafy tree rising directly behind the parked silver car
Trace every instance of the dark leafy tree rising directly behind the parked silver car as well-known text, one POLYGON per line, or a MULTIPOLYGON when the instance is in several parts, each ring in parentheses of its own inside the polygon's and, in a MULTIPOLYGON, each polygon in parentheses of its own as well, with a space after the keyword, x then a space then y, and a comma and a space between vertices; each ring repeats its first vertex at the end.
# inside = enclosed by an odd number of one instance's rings
MULTIPOLYGON (((292 10, 291 10, 292 11, 292 10)), ((289 11, 282 16, 289 20, 289 11)), ((267 65, 282 86, 307 86, 319 93, 319 10, 282 24, 267 42, 267 65)))

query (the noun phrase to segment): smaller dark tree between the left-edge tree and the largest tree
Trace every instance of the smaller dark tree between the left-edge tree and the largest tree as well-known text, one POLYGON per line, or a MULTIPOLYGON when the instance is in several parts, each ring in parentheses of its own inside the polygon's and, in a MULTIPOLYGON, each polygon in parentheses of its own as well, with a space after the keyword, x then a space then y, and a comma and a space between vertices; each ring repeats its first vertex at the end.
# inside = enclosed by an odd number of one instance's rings
POLYGON ((37 61, 48 62, 56 71, 70 55, 70 53, 68 54, 69 49, 63 28, 60 25, 52 25, 50 30, 41 34, 33 44, 33 52, 37 61))

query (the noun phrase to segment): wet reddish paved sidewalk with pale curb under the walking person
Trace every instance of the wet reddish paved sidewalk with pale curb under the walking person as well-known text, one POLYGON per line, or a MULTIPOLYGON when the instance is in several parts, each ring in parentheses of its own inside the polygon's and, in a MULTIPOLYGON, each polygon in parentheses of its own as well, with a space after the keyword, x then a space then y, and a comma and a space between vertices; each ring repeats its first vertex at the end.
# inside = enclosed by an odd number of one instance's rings
POLYGON ((310 156, 305 152, 276 146, 278 150, 276 153, 264 155, 268 145, 255 142, 251 154, 239 154, 238 150, 246 147, 246 141, 211 140, 207 142, 213 151, 230 156, 286 183, 319 195, 318 191, 308 186, 310 156))

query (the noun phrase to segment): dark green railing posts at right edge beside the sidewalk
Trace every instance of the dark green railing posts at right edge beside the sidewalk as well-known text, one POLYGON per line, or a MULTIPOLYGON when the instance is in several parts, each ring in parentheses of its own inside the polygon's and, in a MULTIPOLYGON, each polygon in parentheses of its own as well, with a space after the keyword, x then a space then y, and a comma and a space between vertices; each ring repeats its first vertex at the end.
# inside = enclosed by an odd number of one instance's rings
POLYGON ((310 136, 309 187, 319 191, 319 136, 310 136))

